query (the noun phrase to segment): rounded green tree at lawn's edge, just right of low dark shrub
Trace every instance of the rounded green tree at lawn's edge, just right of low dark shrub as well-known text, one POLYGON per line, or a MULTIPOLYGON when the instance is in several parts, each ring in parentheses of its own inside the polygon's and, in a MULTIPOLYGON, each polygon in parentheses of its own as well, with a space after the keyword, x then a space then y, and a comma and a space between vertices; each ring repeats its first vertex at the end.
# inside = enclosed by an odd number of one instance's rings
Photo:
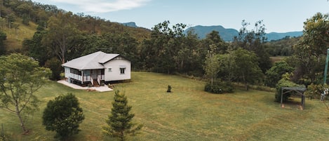
POLYGON ((247 51, 243 48, 238 48, 233 51, 234 62, 237 69, 234 69, 236 81, 245 84, 248 90, 248 84, 260 83, 263 79, 262 70, 258 67, 257 56, 255 53, 247 51))

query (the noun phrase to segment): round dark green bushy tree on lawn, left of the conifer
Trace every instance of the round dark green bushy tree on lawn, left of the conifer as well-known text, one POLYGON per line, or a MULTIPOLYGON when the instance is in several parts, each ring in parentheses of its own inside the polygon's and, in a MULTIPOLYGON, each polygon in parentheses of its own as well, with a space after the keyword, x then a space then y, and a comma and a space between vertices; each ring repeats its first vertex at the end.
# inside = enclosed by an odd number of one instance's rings
POLYGON ((65 139, 79 133, 79 124, 85 119, 78 98, 72 93, 50 100, 43 111, 42 123, 46 130, 55 131, 55 137, 65 139))

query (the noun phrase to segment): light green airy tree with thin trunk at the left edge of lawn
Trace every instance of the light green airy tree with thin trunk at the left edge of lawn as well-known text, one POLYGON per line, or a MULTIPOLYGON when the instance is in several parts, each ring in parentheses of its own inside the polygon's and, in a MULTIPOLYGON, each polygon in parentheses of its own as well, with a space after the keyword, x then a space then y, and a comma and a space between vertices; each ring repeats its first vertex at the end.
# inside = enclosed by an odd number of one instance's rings
POLYGON ((39 67, 38 62, 21 54, 0 57, 0 108, 16 114, 24 133, 23 114, 38 109, 34 93, 46 82, 51 70, 39 67))

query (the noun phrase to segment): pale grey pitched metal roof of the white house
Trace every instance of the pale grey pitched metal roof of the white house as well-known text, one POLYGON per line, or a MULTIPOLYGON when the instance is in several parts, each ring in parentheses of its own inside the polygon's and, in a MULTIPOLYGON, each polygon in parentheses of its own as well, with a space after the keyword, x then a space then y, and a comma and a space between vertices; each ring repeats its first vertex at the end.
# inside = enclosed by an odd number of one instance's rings
POLYGON ((110 54, 103 53, 102 51, 98 51, 95 53, 91 53, 88 55, 81 56, 80 58, 75 58, 70 60, 69 62, 65 62, 63 67, 70 67, 74 69, 103 69, 105 62, 116 58, 119 54, 110 54))

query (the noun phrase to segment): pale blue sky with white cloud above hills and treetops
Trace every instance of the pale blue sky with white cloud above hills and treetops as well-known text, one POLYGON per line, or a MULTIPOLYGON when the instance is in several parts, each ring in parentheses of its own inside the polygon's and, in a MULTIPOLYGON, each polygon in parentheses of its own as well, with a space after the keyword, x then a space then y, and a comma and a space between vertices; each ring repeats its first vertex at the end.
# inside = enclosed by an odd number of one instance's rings
POLYGON ((303 22, 317 12, 329 13, 328 0, 32 0, 65 11, 84 13, 111 22, 135 22, 151 29, 169 20, 188 26, 222 25, 240 29, 241 21, 250 28, 263 20, 266 32, 302 31, 303 22))

